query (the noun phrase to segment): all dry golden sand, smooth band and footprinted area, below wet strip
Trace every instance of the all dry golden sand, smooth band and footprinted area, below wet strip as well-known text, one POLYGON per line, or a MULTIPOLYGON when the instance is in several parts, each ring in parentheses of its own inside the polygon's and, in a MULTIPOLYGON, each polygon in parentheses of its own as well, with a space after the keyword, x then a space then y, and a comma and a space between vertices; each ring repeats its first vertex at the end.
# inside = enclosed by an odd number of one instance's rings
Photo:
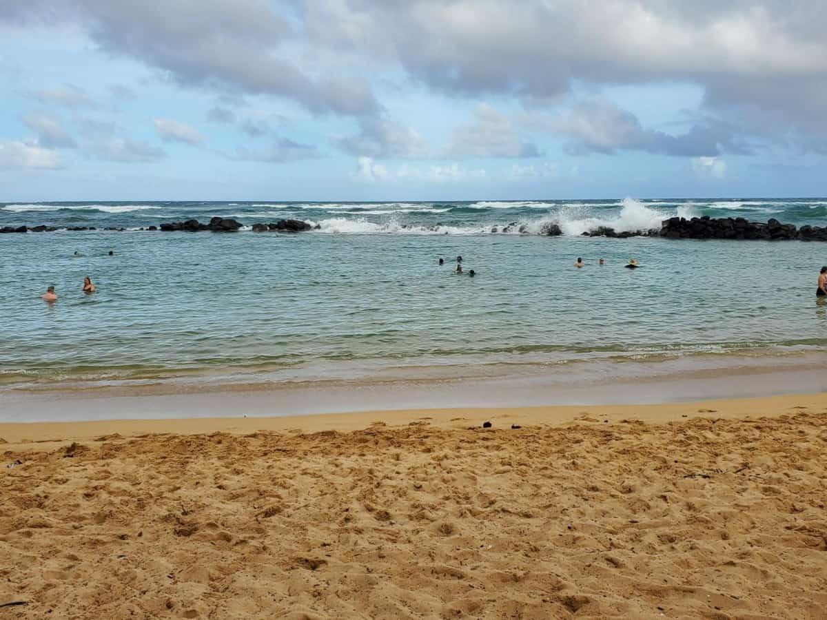
POLYGON ((827 618, 827 394, 0 437, 0 618, 827 618))

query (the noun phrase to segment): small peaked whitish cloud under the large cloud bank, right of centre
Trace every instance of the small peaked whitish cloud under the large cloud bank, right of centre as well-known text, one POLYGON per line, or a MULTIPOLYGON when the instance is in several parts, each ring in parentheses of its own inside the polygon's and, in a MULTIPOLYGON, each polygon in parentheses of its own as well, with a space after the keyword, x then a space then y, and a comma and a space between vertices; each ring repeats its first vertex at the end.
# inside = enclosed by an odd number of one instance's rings
POLYGON ((482 103, 474 111, 474 122, 454 130, 452 157, 537 157, 537 147, 523 141, 508 117, 482 103))

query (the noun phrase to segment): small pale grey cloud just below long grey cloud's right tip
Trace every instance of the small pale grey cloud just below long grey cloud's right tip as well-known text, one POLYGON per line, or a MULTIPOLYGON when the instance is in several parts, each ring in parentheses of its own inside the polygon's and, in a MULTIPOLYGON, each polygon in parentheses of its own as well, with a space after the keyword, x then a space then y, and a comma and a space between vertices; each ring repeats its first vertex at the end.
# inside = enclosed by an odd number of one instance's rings
POLYGON ((413 128, 389 118, 365 118, 360 131, 337 141, 351 155, 379 159, 427 158, 431 156, 428 142, 413 128))

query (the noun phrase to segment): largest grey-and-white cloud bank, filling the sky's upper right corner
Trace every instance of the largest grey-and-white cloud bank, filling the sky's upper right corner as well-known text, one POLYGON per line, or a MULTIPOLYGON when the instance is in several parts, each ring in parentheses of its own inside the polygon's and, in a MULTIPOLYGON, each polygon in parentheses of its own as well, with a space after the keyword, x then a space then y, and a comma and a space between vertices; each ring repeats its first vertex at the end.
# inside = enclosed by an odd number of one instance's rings
POLYGON ((827 136, 823 2, 609 0, 600 10, 579 0, 304 5, 315 45, 380 55, 449 95, 542 103, 571 93, 574 81, 695 83, 711 113, 755 134, 795 131, 805 140, 815 131, 821 144, 827 136))

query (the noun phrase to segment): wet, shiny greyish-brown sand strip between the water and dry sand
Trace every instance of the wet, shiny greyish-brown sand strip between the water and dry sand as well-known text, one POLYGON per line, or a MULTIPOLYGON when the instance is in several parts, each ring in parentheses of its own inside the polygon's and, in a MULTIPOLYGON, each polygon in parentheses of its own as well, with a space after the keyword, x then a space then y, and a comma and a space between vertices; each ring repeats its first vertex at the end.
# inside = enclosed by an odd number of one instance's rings
POLYGON ((504 367, 500 374, 490 376, 386 377, 372 382, 196 381, 87 389, 48 386, 0 390, 0 423, 302 417, 440 408, 635 407, 777 397, 825 391, 827 363, 816 358, 807 354, 788 359, 786 364, 779 358, 742 360, 754 365, 739 366, 726 360, 718 368, 707 365, 708 360, 672 360, 658 362, 657 372, 635 363, 607 363, 590 365, 587 372, 538 365, 517 372, 504 367), (767 361, 772 365, 766 365, 767 361))

